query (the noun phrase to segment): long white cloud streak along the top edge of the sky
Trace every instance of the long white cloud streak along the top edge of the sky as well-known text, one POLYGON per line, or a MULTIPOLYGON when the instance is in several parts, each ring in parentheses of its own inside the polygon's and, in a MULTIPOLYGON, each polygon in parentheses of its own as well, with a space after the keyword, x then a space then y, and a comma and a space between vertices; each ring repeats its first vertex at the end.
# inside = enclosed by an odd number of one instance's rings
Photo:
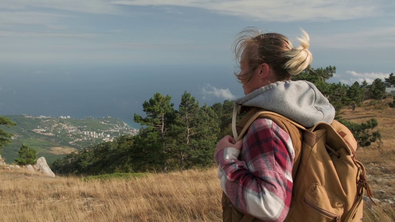
MULTIPOLYGON (((349 20, 379 16, 380 2, 356 0, 115 0, 128 6, 182 6, 265 22, 349 20)), ((166 8, 164 8, 166 10, 166 8)))

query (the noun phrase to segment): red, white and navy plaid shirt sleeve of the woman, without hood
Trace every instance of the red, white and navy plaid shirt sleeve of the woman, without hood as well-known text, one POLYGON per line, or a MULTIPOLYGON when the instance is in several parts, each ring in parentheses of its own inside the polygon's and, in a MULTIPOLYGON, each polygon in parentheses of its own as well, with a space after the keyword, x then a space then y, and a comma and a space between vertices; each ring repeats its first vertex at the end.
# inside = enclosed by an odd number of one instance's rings
POLYGON ((263 221, 284 221, 292 195, 295 153, 290 136, 270 119, 256 119, 240 151, 228 147, 215 157, 220 186, 237 209, 263 221))

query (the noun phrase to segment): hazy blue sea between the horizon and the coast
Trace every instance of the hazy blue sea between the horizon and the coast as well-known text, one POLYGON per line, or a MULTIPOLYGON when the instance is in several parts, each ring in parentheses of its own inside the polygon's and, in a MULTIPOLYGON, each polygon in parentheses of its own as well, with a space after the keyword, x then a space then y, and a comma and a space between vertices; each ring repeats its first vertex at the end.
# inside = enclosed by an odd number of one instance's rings
POLYGON ((156 92, 169 94, 176 109, 184 91, 201 105, 223 102, 224 97, 202 92, 207 84, 243 94, 231 66, 3 65, 0 75, 0 115, 111 116, 137 129, 141 125, 133 121, 134 114, 145 116, 142 104, 156 92))

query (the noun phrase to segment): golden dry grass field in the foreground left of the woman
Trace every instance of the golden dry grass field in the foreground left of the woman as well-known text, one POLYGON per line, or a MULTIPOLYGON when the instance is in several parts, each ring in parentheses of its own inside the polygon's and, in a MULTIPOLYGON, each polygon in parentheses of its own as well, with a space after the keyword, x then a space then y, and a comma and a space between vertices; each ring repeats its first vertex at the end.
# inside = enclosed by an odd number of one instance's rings
POLYGON ((0 221, 220 221, 216 170, 83 182, 1 171, 0 221))

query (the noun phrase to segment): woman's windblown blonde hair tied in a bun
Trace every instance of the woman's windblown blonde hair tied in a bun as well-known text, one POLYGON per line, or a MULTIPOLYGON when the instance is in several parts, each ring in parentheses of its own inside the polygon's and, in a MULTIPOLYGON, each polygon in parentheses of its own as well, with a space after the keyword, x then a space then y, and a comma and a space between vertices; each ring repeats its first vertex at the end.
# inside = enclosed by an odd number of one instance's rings
POLYGON ((254 27, 243 29, 233 42, 236 62, 240 63, 241 57, 246 60, 250 70, 245 75, 235 72, 241 83, 250 81, 253 71, 262 63, 267 63, 274 71, 277 81, 290 80, 292 75, 297 75, 305 70, 313 57, 308 51, 310 38, 302 30, 302 37, 298 38, 301 45, 292 46, 291 41, 278 33, 263 34, 254 27))

